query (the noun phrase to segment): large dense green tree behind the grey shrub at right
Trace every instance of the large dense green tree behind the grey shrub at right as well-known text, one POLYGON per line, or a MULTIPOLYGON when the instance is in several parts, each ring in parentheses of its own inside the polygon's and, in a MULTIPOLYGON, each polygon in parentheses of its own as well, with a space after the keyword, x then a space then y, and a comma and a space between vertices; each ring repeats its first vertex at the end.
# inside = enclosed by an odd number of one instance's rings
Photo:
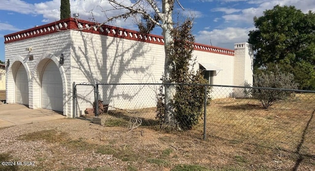
POLYGON ((276 5, 253 19, 249 43, 256 51, 254 73, 292 73, 299 89, 315 89, 315 14, 276 5))

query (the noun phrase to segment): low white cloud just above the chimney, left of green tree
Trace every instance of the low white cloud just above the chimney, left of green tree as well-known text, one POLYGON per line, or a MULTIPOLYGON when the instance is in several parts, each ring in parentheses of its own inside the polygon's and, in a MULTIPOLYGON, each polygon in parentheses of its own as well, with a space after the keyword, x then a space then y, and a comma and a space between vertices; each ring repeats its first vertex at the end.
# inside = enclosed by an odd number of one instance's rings
POLYGON ((212 31, 199 31, 196 42, 227 49, 234 49, 234 43, 247 42, 248 33, 254 28, 227 27, 212 31))

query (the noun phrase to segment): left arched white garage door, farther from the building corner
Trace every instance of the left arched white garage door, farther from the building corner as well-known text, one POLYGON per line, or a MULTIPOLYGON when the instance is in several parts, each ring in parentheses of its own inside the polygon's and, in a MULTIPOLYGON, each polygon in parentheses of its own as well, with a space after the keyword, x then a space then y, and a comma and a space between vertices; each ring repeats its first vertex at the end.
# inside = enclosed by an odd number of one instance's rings
POLYGON ((15 102, 29 105, 29 81, 23 65, 20 65, 15 76, 15 102))

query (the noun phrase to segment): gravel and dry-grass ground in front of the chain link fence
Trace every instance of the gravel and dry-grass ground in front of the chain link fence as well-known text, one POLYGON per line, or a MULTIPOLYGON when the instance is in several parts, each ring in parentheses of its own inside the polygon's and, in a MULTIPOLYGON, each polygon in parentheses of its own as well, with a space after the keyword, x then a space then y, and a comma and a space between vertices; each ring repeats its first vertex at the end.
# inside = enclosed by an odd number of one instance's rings
MULTIPOLYGON (((169 134, 139 127, 130 132, 86 120, 59 119, 0 128, 0 160, 35 162, 35 166, 19 166, 18 171, 170 171, 181 164, 211 169, 205 171, 287 171, 297 164, 294 152, 200 137, 193 130, 169 134), (53 131, 53 136, 44 137, 40 134, 44 131, 53 131), (23 138, 30 134, 33 139, 23 138), (10 157, 3 158, 4 154, 10 157)), ((304 156, 295 171, 315 171, 314 161, 314 156, 304 156)), ((2 168, 13 171, 13 167, 2 168)))

